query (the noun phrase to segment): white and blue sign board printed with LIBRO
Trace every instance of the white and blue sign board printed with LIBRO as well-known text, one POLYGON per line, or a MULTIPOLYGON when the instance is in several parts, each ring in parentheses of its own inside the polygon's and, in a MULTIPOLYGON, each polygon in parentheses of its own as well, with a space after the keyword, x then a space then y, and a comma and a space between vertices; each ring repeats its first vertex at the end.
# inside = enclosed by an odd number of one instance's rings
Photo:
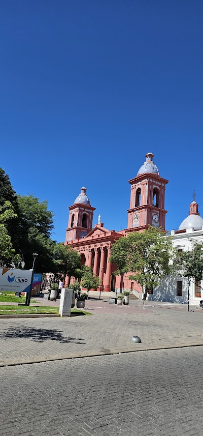
POLYGON ((29 292, 32 270, 16 270, 13 268, 0 268, 0 291, 29 292))

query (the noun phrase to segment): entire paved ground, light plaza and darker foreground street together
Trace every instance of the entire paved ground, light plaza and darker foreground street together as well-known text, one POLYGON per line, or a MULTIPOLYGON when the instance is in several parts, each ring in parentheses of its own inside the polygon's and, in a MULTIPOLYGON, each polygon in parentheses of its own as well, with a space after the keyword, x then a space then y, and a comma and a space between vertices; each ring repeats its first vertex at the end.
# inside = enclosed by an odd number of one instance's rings
POLYGON ((203 436, 203 311, 105 299, 86 310, 1 319, 0 434, 203 436))

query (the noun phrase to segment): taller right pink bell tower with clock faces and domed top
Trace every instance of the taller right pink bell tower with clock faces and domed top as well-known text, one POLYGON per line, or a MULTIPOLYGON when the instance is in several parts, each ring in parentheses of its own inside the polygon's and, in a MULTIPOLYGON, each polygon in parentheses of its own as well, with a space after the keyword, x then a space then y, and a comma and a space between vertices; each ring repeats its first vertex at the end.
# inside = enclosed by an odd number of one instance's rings
POLYGON ((153 225, 165 229, 164 209, 165 185, 168 180, 159 176, 159 170, 153 162, 154 155, 146 154, 146 161, 131 185, 130 207, 127 210, 127 231, 142 230, 153 225))

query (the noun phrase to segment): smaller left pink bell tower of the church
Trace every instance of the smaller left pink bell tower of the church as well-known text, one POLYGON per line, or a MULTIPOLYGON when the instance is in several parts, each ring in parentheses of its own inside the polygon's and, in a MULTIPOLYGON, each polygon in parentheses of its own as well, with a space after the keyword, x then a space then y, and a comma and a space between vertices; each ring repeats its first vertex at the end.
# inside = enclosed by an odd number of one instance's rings
POLYGON ((84 238, 92 230, 92 220, 95 208, 92 208, 86 188, 75 199, 73 206, 69 207, 69 223, 66 228, 65 244, 76 239, 84 238))

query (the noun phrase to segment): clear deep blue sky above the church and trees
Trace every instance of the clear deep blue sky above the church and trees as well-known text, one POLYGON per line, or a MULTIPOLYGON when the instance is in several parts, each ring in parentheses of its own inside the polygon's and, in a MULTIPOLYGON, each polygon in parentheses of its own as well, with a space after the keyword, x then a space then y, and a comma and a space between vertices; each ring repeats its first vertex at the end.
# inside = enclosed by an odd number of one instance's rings
POLYGON ((128 180, 152 152, 166 228, 203 216, 202 0, 1 0, 1 161, 47 199, 54 239, 85 186, 109 229, 127 226, 128 180))

